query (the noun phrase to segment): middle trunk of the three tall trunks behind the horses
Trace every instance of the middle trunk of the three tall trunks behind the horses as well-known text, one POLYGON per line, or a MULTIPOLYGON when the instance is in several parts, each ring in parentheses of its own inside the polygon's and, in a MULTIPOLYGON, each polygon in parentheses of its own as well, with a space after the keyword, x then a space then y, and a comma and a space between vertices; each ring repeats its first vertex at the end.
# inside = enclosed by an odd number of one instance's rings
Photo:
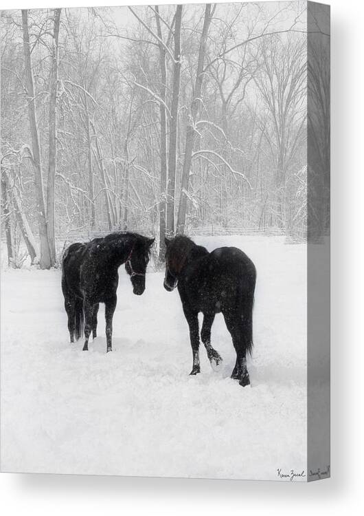
POLYGON ((170 144, 168 156, 168 199, 167 199, 167 228, 169 237, 174 235, 174 193, 176 186, 177 163, 177 122, 179 108, 179 87, 181 78, 181 19, 183 6, 177 6, 174 23, 174 65, 172 84, 172 105, 170 109, 170 144))

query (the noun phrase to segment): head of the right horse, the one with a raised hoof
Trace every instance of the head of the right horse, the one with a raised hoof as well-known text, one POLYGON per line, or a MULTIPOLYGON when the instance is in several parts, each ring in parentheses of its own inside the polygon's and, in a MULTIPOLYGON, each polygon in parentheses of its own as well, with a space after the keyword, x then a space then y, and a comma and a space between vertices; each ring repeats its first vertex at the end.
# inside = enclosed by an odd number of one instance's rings
POLYGON ((177 287, 187 255, 195 244, 190 238, 184 236, 165 238, 164 241, 166 243, 166 274, 163 286, 168 292, 172 292, 177 287))

